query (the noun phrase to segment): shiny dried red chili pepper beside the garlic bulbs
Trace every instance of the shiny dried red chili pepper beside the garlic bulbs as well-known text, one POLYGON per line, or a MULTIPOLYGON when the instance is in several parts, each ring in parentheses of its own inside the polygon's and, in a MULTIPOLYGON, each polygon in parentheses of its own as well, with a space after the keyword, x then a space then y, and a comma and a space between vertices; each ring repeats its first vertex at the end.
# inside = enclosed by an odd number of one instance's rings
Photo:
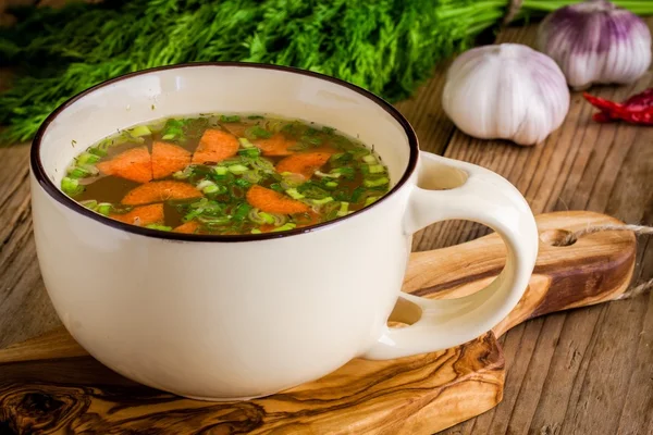
POLYGON ((623 103, 583 94, 586 100, 600 109, 592 119, 596 122, 626 121, 631 124, 653 125, 653 88, 634 95, 623 103))

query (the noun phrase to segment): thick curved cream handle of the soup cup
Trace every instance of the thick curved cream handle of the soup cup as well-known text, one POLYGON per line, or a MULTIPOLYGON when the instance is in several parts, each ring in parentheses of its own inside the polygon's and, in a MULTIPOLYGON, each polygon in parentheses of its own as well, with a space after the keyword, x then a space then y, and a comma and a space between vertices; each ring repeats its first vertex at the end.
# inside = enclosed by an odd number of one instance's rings
POLYGON ((408 200, 405 233, 411 235, 451 219, 479 222, 503 238, 506 265, 488 287, 461 298, 432 300, 402 294, 401 304, 411 302, 419 307, 420 319, 402 328, 386 326, 381 338, 361 356, 366 359, 433 352, 486 333, 515 308, 526 291, 538 257, 535 219, 519 190, 505 178, 475 164, 423 151, 419 167, 418 183, 408 200), (452 183, 459 185, 454 187, 452 183), (452 188, 428 189, 443 186, 452 188))

